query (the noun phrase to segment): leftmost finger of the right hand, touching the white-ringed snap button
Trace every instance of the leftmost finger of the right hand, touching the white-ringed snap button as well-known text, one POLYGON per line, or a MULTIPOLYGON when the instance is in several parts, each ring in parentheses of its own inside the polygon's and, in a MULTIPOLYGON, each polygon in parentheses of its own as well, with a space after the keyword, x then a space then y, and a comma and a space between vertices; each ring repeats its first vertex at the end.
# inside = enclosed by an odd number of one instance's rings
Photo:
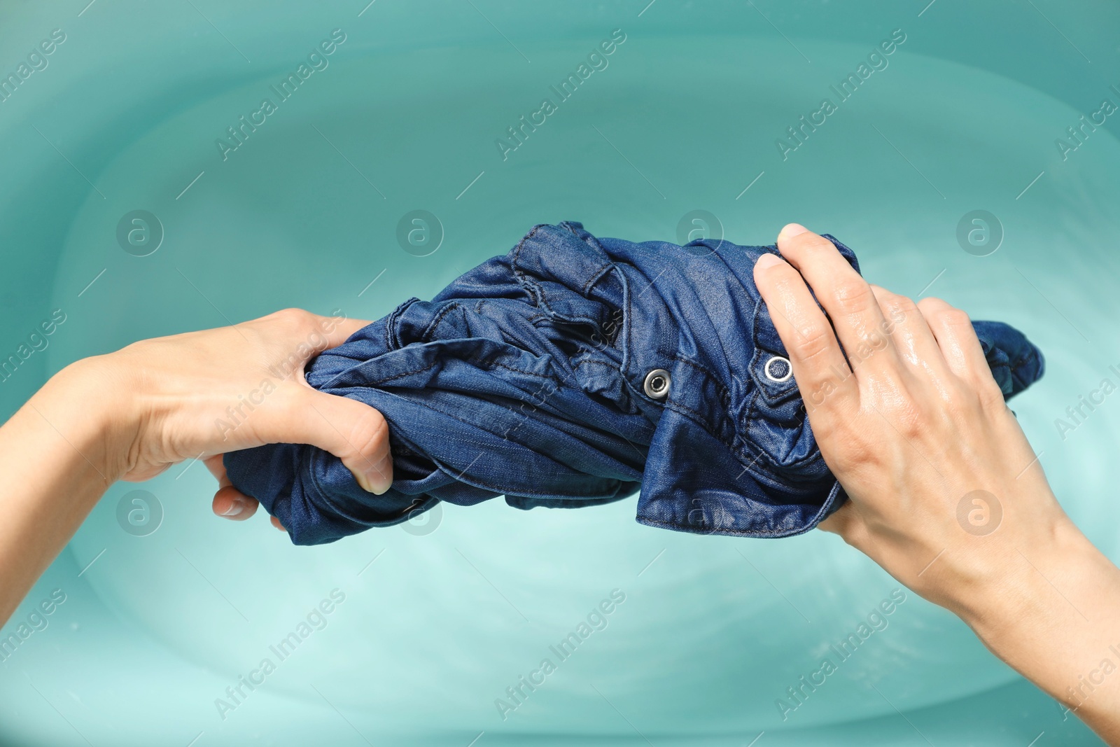
POLYGON ((755 284, 790 354, 806 410, 823 404, 825 396, 853 396, 856 382, 832 326, 797 271, 776 254, 763 254, 755 262, 755 284))

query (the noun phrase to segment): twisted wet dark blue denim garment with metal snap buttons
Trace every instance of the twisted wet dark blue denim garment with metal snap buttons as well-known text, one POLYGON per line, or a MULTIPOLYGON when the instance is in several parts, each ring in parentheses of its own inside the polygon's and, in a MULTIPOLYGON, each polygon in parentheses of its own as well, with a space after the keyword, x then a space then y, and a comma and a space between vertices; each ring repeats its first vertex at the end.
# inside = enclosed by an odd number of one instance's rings
MULTIPOLYGON (((844 495, 755 287, 763 252, 776 249, 538 225, 431 301, 405 301, 309 364, 312 386, 384 414, 388 493, 366 493, 336 457, 299 445, 227 454, 230 479, 296 544, 396 524, 439 501, 580 507, 638 488, 643 524, 805 532, 844 495), (664 386, 647 390, 659 370, 664 386)), ((974 327, 1005 396, 1042 375, 1019 332, 974 327)))

